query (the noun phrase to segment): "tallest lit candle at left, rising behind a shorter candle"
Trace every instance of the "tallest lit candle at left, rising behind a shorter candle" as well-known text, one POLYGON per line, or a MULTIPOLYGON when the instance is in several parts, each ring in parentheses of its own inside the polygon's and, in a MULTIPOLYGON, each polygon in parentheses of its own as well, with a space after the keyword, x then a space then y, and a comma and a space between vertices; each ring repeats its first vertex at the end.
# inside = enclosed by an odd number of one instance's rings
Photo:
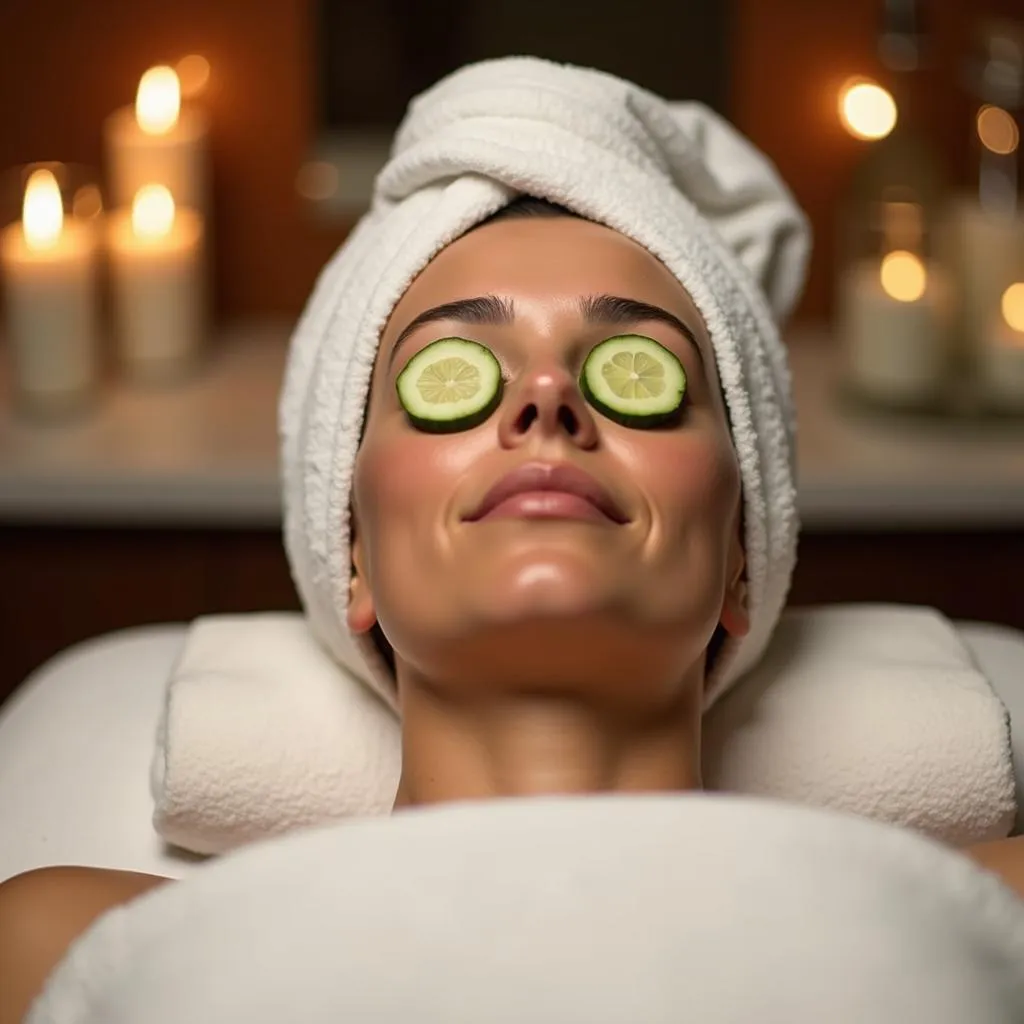
POLYGON ((173 68, 151 68, 134 109, 115 111, 103 134, 113 206, 127 207, 143 185, 162 184, 179 207, 208 212, 206 118, 181 105, 173 68))

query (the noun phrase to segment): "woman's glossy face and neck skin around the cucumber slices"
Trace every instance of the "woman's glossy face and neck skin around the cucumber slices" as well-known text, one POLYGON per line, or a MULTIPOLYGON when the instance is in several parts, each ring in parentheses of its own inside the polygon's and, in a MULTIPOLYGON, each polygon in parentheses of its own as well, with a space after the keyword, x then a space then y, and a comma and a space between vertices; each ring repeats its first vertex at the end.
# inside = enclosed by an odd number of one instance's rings
POLYGON ((699 786, 705 650, 720 623, 749 627, 739 469, 702 318, 646 250, 558 218, 488 224, 441 252, 383 333, 353 510, 348 624, 379 622, 395 651, 399 805, 699 786), (695 344, 652 317, 589 319, 582 306, 600 295, 666 310, 695 344), (445 317, 395 348, 424 310, 479 296, 514 319, 445 317), (677 423, 623 426, 584 399, 584 359, 624 333, 683 361, 677 423), (496 354, 502 402, 472 429, 424 432, 394 381, 453 335, 496 354), (467 521, 498 480, 531 463, 583 469, 628 521, 536 494, 467 521))

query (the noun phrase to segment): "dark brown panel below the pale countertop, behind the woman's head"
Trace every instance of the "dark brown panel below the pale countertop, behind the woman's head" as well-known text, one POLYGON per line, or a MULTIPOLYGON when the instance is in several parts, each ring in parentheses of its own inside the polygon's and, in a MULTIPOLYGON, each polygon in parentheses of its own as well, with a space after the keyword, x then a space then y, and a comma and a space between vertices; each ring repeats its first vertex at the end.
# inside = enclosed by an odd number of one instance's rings
MULTIPOLYGON (((275 530, 0 528, 0 700, 71 644, 299 607, 275 530)), ((807 534, 792 603, 895 601, 1024 629, 1024 532, 807 534)))

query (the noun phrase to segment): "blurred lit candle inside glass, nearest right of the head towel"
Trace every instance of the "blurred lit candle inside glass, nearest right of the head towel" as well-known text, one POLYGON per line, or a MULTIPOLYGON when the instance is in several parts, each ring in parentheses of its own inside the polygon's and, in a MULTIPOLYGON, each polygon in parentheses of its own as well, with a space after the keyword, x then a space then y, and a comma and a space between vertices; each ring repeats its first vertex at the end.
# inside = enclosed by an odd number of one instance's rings
POLYGON ((908 250, 848 268, 840 304, 847 368, 864 397, 926 406, 948 372, 948 288, 941 271, 908 250))

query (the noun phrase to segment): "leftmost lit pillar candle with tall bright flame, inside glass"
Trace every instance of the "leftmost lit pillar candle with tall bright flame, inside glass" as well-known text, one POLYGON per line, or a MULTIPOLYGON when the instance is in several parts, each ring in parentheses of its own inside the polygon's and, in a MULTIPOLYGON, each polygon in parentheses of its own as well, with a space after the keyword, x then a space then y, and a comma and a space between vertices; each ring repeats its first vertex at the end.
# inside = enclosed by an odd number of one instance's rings
POLYGON ((65 217, 53 171, 29 177, 0 265, 15 388, 34 406, 77 403, 97 376, 96 240, 88 222, 65 217))

